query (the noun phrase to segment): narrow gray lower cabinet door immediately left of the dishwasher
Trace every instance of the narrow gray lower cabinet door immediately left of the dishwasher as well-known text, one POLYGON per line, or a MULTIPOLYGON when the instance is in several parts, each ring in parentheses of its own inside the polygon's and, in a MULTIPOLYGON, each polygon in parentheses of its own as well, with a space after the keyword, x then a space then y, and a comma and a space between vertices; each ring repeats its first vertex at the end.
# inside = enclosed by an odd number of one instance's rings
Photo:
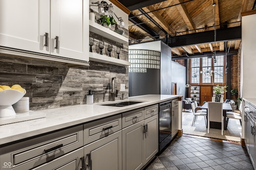
POLYGON ((146 164, 158 152, 158 115, 144 120, 144 163, 146 164))

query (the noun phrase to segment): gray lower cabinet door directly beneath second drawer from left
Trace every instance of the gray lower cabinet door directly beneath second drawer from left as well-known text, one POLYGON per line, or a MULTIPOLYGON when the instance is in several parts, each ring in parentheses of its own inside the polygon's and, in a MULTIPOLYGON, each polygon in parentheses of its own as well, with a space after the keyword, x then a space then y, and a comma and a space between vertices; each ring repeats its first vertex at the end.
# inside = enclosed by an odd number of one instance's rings
POLYGON ((85 170, 122 170, 122 131, 84 147, 85 170))

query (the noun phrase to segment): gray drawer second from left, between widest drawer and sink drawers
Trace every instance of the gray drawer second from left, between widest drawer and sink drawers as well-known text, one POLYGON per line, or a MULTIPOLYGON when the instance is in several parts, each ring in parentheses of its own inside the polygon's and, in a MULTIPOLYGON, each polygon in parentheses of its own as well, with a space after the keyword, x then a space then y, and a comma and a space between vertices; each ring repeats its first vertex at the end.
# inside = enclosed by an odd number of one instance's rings
POLYGON ((122 115, 114 115, 84 124, 84 145, 122 129, 122 115))

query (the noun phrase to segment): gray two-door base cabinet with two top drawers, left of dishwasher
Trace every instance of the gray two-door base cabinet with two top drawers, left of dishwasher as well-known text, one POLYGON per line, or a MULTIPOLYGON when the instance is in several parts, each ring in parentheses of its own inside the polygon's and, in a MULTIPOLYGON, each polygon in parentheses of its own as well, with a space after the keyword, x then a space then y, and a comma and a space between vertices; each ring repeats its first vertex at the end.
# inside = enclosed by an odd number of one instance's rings
POLYGON ((122 129, 122 170, 140 170, 158 152, 158 106, 123 113, 122 122, 128 117, 133 124, 122 129), (140 113, 148 118, 137 121, 140 113))

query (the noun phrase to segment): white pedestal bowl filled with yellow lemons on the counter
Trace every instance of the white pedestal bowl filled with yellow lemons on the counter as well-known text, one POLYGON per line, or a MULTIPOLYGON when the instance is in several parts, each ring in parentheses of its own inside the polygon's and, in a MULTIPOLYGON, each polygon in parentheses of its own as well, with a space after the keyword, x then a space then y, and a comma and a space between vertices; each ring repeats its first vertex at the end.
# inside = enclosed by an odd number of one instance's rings
POLYGON ((19 84, 13 86, 0 85, 0 117, 16 115, 12 105, 18 102, 24 95, 26 90, 19 84))

